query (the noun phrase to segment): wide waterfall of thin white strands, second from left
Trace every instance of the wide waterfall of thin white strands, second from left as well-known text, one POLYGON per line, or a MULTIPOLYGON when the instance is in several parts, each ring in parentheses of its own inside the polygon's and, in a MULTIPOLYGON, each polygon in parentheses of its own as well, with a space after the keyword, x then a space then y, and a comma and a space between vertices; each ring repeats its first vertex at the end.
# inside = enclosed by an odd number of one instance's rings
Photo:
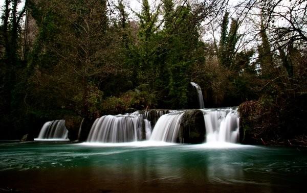
POLYGON ((142 116, 139 112, 105 115, 97 118, 87 142, 130 142, 142 139, 142 116))

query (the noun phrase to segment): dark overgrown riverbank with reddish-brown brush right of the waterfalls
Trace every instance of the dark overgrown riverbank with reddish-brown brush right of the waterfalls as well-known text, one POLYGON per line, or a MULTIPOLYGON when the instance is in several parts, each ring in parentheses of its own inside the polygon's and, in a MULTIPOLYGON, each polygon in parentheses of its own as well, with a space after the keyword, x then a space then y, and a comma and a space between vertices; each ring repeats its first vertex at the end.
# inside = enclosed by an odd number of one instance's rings
POLYGON ((238 108, 240 141, 265 146, 307 146, 306 96, 295 100, 247 101, 238 108))

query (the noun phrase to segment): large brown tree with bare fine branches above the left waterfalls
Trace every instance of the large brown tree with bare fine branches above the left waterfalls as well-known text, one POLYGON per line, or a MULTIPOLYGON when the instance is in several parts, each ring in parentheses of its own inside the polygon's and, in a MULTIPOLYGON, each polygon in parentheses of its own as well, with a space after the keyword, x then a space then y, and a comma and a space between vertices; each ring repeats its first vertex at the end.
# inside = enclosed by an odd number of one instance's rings
MULTIPOLYGON (((40 32, 52 26, 56 33, 46 34, 38 46, 48 46, 48 52, 58 60, 52 66, 38 63, 35 67, 37 70, 30 79, 30 89, 36 91, 30 92, 32 100, 49 87, 50 95, 56 98, 52 99, 57 104, 55 110, 70 110, 82 117, 94 118, 101 108, 105 81, 123 71, 119 59, 122 36, 109 26, 104 0, 65 3, 54 0, 48 9, 50 14, 41 21, 40 32)), ((34 50, 38 51, 46 52, 34 50)), ((38 101, 46 104, 50 95, 38 101)))

